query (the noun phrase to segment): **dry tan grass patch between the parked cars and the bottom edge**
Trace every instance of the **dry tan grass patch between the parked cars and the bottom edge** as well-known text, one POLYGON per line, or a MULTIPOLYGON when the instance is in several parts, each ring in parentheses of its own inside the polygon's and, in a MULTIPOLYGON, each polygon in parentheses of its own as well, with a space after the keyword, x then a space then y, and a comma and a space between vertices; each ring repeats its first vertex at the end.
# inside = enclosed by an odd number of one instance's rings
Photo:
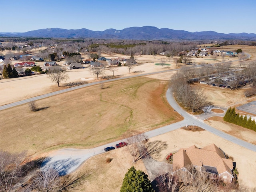
POLYGON ((80 173, 90 172, 90 176, 76 191, 119 192, 124 175, 132 166, 146 172, 142 160, 132 163, 127 147, 94 156, 79 169, 80 173), (107 158, 112 161, 106 162, 107 158))

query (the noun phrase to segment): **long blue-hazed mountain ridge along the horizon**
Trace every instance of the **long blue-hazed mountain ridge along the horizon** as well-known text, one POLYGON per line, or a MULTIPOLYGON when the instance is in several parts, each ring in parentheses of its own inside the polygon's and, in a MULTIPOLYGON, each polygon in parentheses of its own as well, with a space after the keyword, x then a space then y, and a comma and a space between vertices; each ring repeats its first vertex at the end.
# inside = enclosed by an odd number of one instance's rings
POLYGON ((207 40, 207 39, 240 39, 256 40, 254 33, 217 33, 214 31, 188 32, 168 28, 158 29, 152 26, 129 27, 122 30, 107 29, 92 31, 82 29, 47 28, 24 33, 2 33, 0 36, 9 37, 39 37, 39 38, 100 38, 100 39, 133 39, 133 40, 207 40))

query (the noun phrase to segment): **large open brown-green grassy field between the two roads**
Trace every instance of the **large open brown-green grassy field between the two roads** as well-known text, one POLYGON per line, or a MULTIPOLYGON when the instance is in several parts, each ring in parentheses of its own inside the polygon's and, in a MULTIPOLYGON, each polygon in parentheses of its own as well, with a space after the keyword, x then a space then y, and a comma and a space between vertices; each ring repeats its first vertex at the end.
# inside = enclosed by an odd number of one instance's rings
POLYGON ((91 86, 0 111, 0 148, 28 155, 58 148, 91 148, 177 122, 166 104, 168 81, 140 77, 91 86), (4 134, 3 134, 4 133, 4 134))

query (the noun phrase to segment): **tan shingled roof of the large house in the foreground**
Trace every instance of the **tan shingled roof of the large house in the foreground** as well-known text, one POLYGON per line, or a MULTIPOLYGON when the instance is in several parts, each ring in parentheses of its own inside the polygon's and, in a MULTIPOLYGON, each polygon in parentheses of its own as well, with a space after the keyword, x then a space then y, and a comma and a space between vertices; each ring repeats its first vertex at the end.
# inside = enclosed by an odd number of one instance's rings
POLYGON ((183 167, 200 166, 207 172, 222 174, 228 172, 232 177, 233 161, 226 159, 224 152, 215 144, 202 149, 195 145, 189 148, 182 148, 173 154, 173 168, 177 171, 183 167))

